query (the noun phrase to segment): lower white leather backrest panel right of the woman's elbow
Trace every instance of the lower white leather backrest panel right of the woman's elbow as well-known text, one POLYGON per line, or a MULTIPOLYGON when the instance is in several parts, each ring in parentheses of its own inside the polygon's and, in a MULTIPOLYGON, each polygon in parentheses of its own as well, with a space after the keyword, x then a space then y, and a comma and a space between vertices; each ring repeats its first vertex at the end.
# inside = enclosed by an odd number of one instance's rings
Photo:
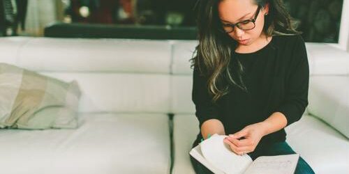
POLYGON ((349 77, 311 78, 308 111, 349 138, 349 77))

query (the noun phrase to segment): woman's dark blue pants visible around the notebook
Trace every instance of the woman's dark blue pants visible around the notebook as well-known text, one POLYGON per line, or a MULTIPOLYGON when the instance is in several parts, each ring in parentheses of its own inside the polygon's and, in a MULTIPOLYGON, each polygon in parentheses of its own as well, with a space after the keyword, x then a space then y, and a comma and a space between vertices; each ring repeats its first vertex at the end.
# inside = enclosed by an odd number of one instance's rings
MULTIPOLYGON (((260 148, 256 148, 255 151, 248 153, 248 155, 255 160, 260 156, 274 156, 274 155, 290 155, 295 154, 296 152, 292 150, 290 145, 286 142, 273 143, 270 145, 262 145, 260 148)), ((203 166, 195 158, 191 157, 191 164, 194 168, 195 173, 197 174, 208 174, 212 173, 208 168, 203 166)), ((314 173, 311 166, 304 161, 302 157, 299 157, 295 174, 309 174, 314 173)))

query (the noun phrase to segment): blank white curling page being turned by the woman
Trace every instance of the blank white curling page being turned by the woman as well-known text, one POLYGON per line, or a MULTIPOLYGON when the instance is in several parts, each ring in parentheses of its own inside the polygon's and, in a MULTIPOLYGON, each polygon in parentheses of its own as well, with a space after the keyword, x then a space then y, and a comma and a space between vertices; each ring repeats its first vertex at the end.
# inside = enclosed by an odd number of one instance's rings
POLYGON ((252 163, 248 155, 236 155, 223 142, 225 135, 214 134, 200 143, 202 155, 210 164, 227 174, 243 173, 252 163))

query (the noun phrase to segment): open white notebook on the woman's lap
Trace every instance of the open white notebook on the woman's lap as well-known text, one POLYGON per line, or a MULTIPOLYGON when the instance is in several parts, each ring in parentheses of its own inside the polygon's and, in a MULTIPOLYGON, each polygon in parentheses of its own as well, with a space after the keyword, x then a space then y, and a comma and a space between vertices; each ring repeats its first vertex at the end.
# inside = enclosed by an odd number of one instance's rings
POLYGON ((214 134, 195 146, 189 154, 209 168, 222 174, 291 174, 295 173, 299 154, 261 156, 253 161, 248 155, 236 155, 223 142, 225 135, 214 134))

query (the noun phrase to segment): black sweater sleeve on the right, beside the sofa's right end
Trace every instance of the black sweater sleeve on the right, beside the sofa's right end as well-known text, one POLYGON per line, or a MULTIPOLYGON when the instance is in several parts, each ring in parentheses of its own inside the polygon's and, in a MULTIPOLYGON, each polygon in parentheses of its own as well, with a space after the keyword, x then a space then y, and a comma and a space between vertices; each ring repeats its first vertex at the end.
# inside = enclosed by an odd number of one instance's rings
POLYGON ((290 63, 290 76, 286 81, 285 100, 277 111, 283 113, 287 125, 298 121, 308 106, 309 63, 304 40, 299 35, 290 63))

